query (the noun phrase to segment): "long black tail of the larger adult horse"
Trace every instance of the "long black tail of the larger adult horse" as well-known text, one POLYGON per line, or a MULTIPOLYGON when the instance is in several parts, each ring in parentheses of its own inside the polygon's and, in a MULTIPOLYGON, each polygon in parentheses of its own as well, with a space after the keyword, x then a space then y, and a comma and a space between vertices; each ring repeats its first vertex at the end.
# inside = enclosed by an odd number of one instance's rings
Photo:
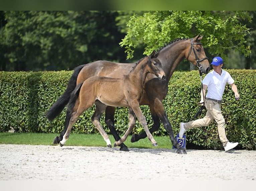
POLYGON ((66 91, 57 99, 57 101, 55 101, 55 103, 53 103, 51 108, 46 112, 46 117, 49 121, 52 121, 55 117, 57 117, 64 109, 64 107, 68 104, 71 93, 76 88, 78 74, 84 66, 85 65, 81 65, 74 69, 74 73, 69 80, 66 91))

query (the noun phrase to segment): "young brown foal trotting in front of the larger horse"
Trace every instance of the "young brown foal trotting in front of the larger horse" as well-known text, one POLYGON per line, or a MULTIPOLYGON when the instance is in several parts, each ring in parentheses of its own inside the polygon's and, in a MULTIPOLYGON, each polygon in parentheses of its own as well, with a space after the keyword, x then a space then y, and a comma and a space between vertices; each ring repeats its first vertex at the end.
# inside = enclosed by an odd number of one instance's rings
POLYGON ((93 76, 79 84, 72 92, 68 103, 67 118, 70 118, 70 120, 66 123, 67 126, 65 128, 67 130, 60 141, 60 146, 63 146, 69 138, 72 126, 79 116, 93 106, 94 103, 96 109, 91 120, 103 136, 108 147, 111 147, 110 139, 100 124, 100 118, 108 105, 129 107, 129 127, 123 137, 114 143, 114 146, 118 146, 126 140, 135 126, 136 116, 144 127, 148 139, 152 142, 153 146, 157 146, 147 127, 146 118, 139 104, 143 94, 143 84, 148 73, 157 76, 160 81, 165 80, 165 73, 160 61, 156 58, 155 51, 150 56, 139 61, 132 71, 124 77, 108 78, 93 76))

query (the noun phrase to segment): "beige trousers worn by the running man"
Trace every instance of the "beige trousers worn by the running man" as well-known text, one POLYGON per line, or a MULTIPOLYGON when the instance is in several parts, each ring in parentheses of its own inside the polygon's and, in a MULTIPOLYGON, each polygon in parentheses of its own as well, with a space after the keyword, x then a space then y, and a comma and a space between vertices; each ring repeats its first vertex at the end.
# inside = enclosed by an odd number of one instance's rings
POLYGON ((189 121, 187 123, 184 123, 184 128, 187 130, 195 127, 205 127, 208 126, 213 120, 215 120, 218 124, 218 133, 222 145, 226 146, 229 140, 227 139, 225 131, 225 119, 221 113, 221 103, 207 100, 205 106, 207 108, 205 117, 197 119, 195 121, 189 121))

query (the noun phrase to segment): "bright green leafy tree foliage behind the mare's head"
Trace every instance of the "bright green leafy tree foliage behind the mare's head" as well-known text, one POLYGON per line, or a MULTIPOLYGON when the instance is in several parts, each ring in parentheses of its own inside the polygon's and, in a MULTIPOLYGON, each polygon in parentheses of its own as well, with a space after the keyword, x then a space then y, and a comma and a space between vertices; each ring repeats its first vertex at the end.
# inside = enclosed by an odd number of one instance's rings
POLYGON ((226 50, 235 49, 248 56, 251 50, 245 38, 250 29, 242 21, 251 22, 252 16, 247 11, 150 11, 131 17, 120 45, 125 47, 127 58, 132 58, 139 44, 145 45, 144 54, 148 55, 176 38, 201 34, 211 55, 226 59, 226 50))

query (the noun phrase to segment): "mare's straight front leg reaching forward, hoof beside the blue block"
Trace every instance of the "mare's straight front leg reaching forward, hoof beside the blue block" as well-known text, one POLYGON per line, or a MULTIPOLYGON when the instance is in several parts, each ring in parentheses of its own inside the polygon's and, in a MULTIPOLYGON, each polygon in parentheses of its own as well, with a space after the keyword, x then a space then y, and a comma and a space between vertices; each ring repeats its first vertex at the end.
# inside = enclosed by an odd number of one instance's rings
POLYGON ((164 107, 162 102, 156 98, 154 100, 154 110, 156 111, 157 115, 159 116, 160 120, 163 123, 164 128, 166 129, 166 131, 168 132, 168 135, 171 139, 171 143, 172 145, 177 148, 177 153, 178 154, 187 154, 187 152, 185 151, 184 148, 182 148, 178 142, 176 141, 174 135, 173 135, 173 131, 172 131, 172 127, 171 124, 167 118, 167 115, 165 113, 164 107))

